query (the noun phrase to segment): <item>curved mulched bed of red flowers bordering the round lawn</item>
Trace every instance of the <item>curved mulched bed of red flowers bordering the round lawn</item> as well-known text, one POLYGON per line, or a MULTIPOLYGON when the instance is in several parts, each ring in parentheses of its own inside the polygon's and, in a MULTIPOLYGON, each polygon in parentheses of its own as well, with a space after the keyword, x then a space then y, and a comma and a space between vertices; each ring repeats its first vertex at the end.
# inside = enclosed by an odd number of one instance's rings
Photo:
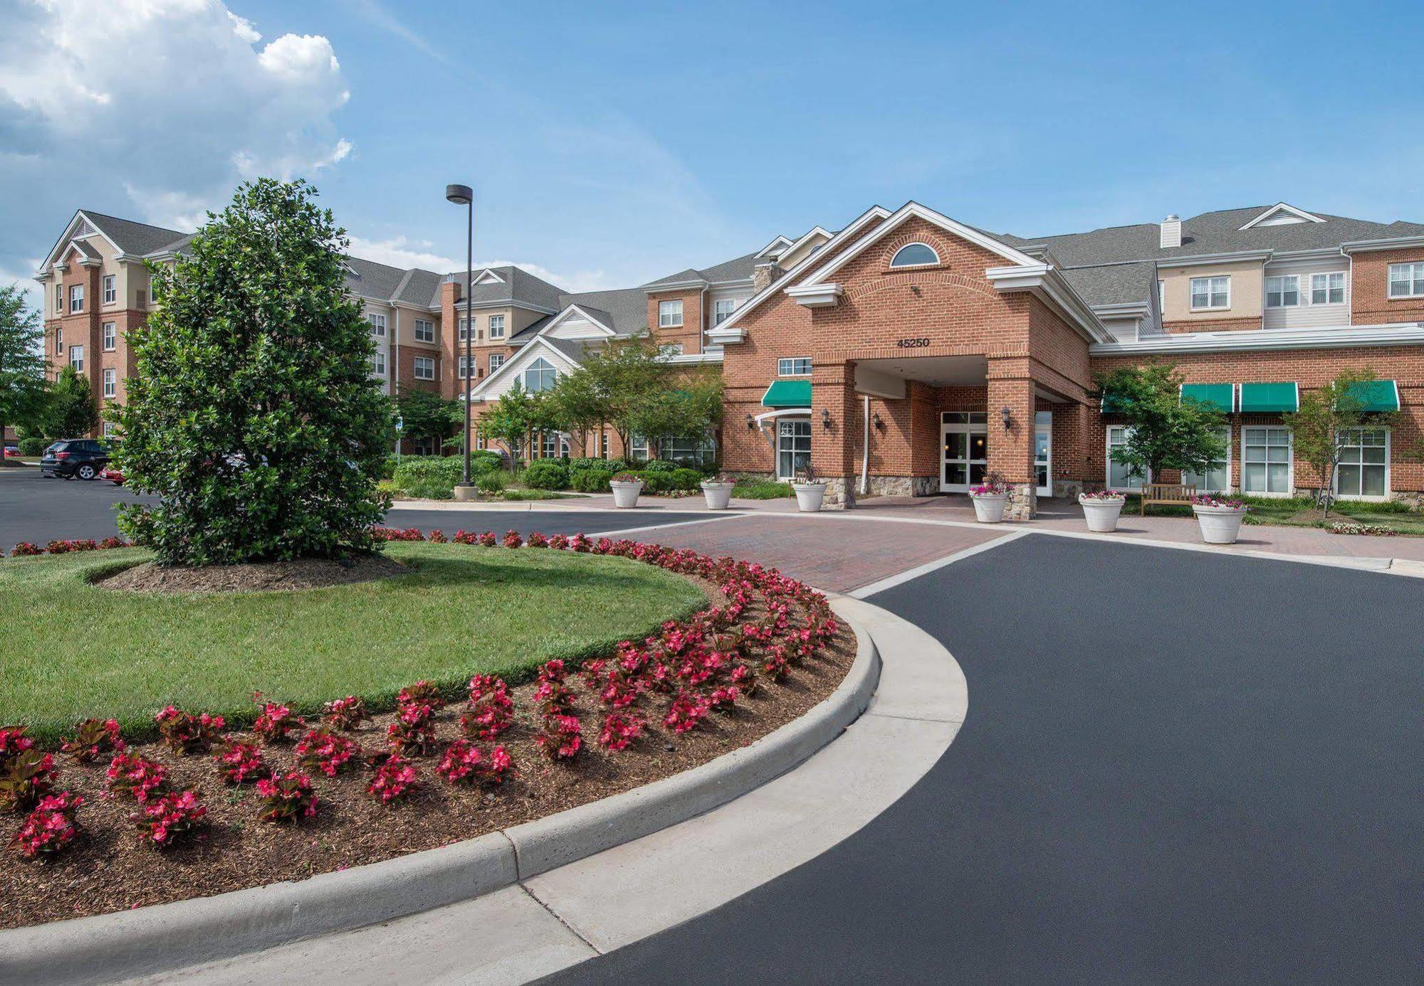
POLYGON ((715 586, 718 605, 580 667, 550 660, 530 684, 477 674, 459 704, 414 682, 393 713, 333 696, 319 721, 259 693, 248 731, 168 706, 144 746, 114 720, 78 723, 58 750, 0 728, 0 926, 298 879, 628 790, 795 719, 854 656, 824 596, 775 569, 584 535, 429 539, 631 558, 715 586))

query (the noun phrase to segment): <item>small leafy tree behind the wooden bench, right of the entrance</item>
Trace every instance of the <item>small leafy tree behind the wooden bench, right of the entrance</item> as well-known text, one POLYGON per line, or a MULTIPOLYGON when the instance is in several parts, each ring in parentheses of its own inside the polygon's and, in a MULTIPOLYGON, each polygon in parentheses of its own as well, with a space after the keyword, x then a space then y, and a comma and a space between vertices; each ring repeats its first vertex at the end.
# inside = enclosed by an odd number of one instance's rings
POLYGON ((1226 454, 1220 428, 1226 417, 1203 401, 1180 397, 1183 377, 1169 363, 1125 367, 1094 377, 1095 397, 1126 418, 1126 442, 1112 450, 1112 461, 1128 474, 1162 470, 1206 472, 1226 454))

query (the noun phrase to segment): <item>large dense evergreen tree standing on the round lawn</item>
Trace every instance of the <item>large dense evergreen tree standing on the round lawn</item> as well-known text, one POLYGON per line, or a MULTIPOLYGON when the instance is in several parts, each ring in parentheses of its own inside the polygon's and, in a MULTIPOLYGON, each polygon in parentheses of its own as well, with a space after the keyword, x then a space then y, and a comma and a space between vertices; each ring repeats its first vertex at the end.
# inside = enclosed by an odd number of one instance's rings
POLYGON ((306 182, 244 184, 128 333, 118 465, 159 505, 124 509, 164 563, 332 558, 379 545, 390 405, 346 292, 347 240, 306 182))

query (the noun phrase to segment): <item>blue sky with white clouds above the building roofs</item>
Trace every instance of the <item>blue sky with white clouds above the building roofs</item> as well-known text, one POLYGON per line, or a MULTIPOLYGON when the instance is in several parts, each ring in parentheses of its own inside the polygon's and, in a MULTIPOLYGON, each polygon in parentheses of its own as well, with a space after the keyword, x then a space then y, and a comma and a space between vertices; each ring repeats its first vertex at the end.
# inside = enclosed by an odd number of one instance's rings
POLYGON ((101 10, 0 0, 6 279, 77 206, 189 225, 244 174, 305 174, 357 253, 437 267, 471 184, 477 260, 571 289, 911 198, 1025 236, 1279 199, 1424 221, 1417 4, 101 10))

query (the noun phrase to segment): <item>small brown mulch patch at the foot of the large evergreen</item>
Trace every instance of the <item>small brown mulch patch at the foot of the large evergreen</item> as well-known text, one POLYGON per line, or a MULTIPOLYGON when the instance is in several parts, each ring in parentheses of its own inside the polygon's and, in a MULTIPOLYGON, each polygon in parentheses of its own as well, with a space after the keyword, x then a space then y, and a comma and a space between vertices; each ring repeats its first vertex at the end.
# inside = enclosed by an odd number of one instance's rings
POLYGON ((278 589, 322 589, 333 585, 370 582, 404 575, 410 569, 382 555, 349 561, 302 558, 292 562, 248 565, 164 566, 145 562, 115 572, 94 585, 125 592, 272 592, 278 589))

